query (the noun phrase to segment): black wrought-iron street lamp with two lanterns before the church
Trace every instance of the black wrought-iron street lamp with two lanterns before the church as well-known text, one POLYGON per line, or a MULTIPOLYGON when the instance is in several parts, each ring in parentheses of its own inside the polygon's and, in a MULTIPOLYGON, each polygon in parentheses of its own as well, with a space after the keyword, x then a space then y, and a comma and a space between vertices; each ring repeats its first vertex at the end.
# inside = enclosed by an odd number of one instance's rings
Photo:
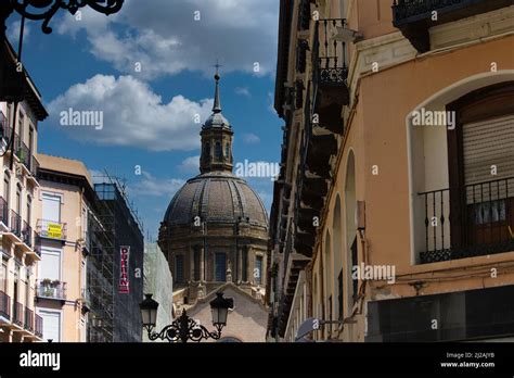
POLYGON ((152 341, 157 339, 168 340, 169 342, 188 342, 189 340, 200 342, 203 339, 219 340, 222 328, 227 326, 229 308, 234 307, 233 299, 223 298, 222 292, 217 292, 216 298, 209 303, 213 314, 213 326, 216 330, 207 330, 207 328, 190 318, 185 310, 183 310, 182 315, 178 319, 156 332, 153 329, 157 322, 158 303, 152 299, 152 294, 145 294, 145 297, 139 306, 141 308, 143 328, 146 329, 149 339, 152 341))

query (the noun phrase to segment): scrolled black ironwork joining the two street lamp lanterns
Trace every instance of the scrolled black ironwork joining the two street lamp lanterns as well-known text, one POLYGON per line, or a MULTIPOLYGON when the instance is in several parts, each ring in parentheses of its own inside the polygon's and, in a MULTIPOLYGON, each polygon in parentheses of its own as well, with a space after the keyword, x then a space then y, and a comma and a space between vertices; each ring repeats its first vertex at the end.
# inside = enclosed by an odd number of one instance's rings
POLYGON ((197 324, 182 311, 182 315, 170 325, 164 327, 159 332, 153 331, 153 327, 146 327, 149 339, 168 340, 168 342, 188 342, 189 340, 200 342, 204 339, 219 340, 221 338, 222 325, 217 325, 216 330, 210 332, 204 326, 197 324))

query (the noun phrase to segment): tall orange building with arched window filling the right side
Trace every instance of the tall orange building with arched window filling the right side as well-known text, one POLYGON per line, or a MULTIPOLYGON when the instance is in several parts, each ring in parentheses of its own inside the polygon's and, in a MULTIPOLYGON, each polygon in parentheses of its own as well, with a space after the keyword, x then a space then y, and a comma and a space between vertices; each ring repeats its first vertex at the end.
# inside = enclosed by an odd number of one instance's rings
POLYGON ((281 1, 270 339, 514 335, 513 34, 512 1, 281 1))

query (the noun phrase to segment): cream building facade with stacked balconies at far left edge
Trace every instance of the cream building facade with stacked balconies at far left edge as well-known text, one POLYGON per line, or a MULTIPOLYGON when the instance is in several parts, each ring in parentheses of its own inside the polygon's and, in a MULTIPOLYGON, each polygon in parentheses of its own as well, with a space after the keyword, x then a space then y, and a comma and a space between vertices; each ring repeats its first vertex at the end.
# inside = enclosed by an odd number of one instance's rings
MULTIPOLYGON (((16 55, 4 39, 0 61, 14 72, 16 55)), ((24 71, 11 81, 7 72, 2 71, 0 90, 0 342, 31 342, 41 341, 43 332, 42 318, 35 311, 41 260, 35 238, 35 207, 39 196, 38 123, 48 113, 28 73, 24 71), (12 83, 18 88, 11 87, 12 83), (13 89, 20 90, 16 96, 12 96, 16 93, 13 89), (20 101, 17 105, 13 100, 20 101)))

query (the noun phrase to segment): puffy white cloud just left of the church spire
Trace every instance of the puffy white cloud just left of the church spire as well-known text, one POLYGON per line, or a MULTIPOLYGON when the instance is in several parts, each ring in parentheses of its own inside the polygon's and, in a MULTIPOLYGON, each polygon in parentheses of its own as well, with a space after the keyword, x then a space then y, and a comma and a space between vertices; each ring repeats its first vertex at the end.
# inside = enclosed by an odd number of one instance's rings
POLYGON ((191 101, 176 96, 163 103, 160 96, 132 76, 97 75, 72 86, 48 109, 53 124, 61 112, 97 111, 103 128, 61 126, 69 137, 104 146, 134 147, 152 151, 193 150, 200 146, 200 124, 210 114, 213 100, 191 101))

